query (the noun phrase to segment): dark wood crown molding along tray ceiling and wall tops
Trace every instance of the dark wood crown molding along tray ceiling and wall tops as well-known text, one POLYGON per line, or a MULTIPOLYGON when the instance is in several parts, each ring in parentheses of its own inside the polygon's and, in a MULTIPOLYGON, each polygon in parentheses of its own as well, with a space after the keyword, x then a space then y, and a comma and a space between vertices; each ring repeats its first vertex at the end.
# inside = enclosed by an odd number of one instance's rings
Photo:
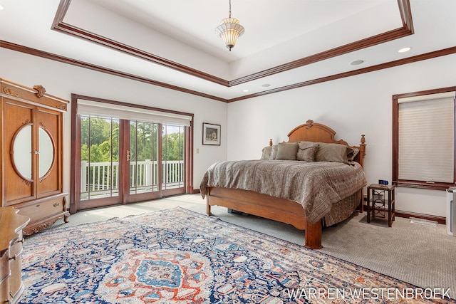
MULTIPOLYGON (((269 76, 269 75, 274 75, 276 73, 285 72, 287 70, 291 70, 291 69, 294 69, 294 68, 299 68, 299 67, 304 66, 304 65, 309 65, 311 63, 316 63, 318 61, 323 61, 325 59, 332 58, 332 57, 335 57, 335 56, 341 56, 341 55, 343 55, 345 53, 349 53, 349 52, 352 52, 352 51, 357 51, 357 50, 360 50, 362 48, 367 48, 369 46, 375 46, 377 44, 384 43, 386 41, 392 41, 394 39, 402 38, 402 37, 405 37, 405 36, 413 34, 413 20, 412 20, 412 14, 411 14, 411 11, 410 11, 410 1, 409 0, 398 0, 400 16, 401 16, 401 19, 403 21, 403 27, 402 28, 397 28, 395 30, 388 31, 386 33, 380 33, 380 34, 378 34, 376 36, 371 36, 371 37, 363 39, 361 41, 356 41, 354 43, 348 43, 345 46, 341 46, 341 47, 338 47, 338 48, 333 48, 333 49, 328 50, 328 51, 323 51, 321 53, 317 53, 317 54, 314 54, 312 56, 301 58, 301 59, 296 60, 296 61, 291 61, 290 63, 285 63, 283 65, 278 65, 278 66, 276 66, 274 68, 263 70, 263 71, 258 72, 258 73, 253 73, 251 75, 247 75, 247 76, 245 76, 243 78, 238 78, 238 79, 229 81, 229 80, 224 80, 222 78, 217 78, 214 75, 209 75, 207 73, 202 73, 202 71, 195 70, 193 68, 189 68, 189 67, 187 67, 185 65, 180 65, 179 63, 175 63, 173 61, 169 61, 166 58, 155 56, 155 55, 147 53, 145 51, 141 51, 141 50, 139 50, 137 48, 133 48, 131 46, 126 46, 123 43, 119 43, 117 41, 110 40, 110 39, 105 38, 103 36, 99 36, 99 35, 97 35, 95 33, 90 33, 88 31, 84 31, 83 29, 77 28, 76 26, 71 26, 68 23, 64 23, 63 22, 63 18, 64 18, 65 14, 66 14, 66 11, 68 11, 68 7, 69 7, 70 4, 71 4, 71 0, 61 0, 60 4, 58 6, 58 10, 56 12, 56 16, 55 16, 55 18, 53 20, 53 26, 52 26, 53 30, 61 31, 63 33, 67 33, 69 35, 76 36, 78 38, 82 38, 82 39, 86 39, 88 41, 92 41, 94 43, 99 43, 99 44, 101 44, 103 46, 108 46, 110 48, 114 48, 115 50, 122 51, 123 53, 128 53, 131 56, 137 56, 137 57, 145 59, 147 61, 151 61, 153 63, 157 63, 157 64, 160 64, 160 65, 166 66, 168 68, 173 68, 175 70, 179 70, 182 73, 187 73, 187 74, 193 75, 195 77, 199 77, 199 78, 202 78, 204 80, 212 81, 213 83, 217 83, 219 85, 224 85, 224 86, 227 86, 227 87, 231 87, 233 85, 239 85, 239 84, 246 83, 246 82, 252 81, 252 80, 257 80, 259 78, 264 78, 264 77, 269 76)), ((27 53, 27 54, 30 54, 30 55, 33 55, 33 56, 38 56, 38 57, 41 57, 41 58, 51 59, 53 61, 58 61, 58 62, 61 62, 61 63, 67 63, 67 64, 71 64, 71 65, 76 65, 76 66, 79 66, 79 67, 82 67, 82 68, 88 68, 90 70, 96 70, 96 71, 101 72, 101 73, 108 73, 108 74, 111 74, 111 75, 116 75, 116 76, 119 76, 119 77, 140 81, 142 83, 148 83, 150 85, 156 85, 156 86, 159 86, 159 87, 162 87, 162 88, 167 88, 167 89, 170 89, 170 90, 177 90, 177 91, 180 91, 182 93, 187 93, 187 94, 191 94, 191 95, 197 95, 197 96, 200 96, 200 97, 203 97, 203 98, 209 98, 211 100, 217 100, 217 101, 221 101, 221 102, 224 102, 224 103, 233 103, 233 102, 236 102, 236 101, 239 101, 239 100, 246 100, 246 99, 249 99, 249 98, 255 98, 255 97, 262 96, 262 95, 269 95, 269 94, 273 94, 273 93, 283 92, 283 91, 286 91, 286 90, 293 90, 295 88, 302 88, 302 87, 308 86, 308 85, 314 85, 314 84, 317 84, 317 83, 324 83, 326 81, 331 81, 331 80, 351 77, 353 75, 360 75, 360 74, 363 74, 363 73, 371 73, 371 72, 373 72, 375 70, 382 70, 382 69, 385 69, 385 68, 392 68, 392 67, 395 67, 395 66, 398 66, 398 65, 414 63, 414 62, 417 62, 417 61, 423 61, 423 60, 427 60, 427 59, 431 59, 431 58, 437 58, 437 57, 440 57, 440 56, 447 56, 447 55, 456 53, 456 46, 454 46, 454 47, 451 47, 451 48, 445 48, 445 49, 442 49, 442 50, 439 50, 439 51, 433 51, 433 52, 430 52, 430 53, 425 53, 425 54, 421 54, 421 55, 418 55, 418 56, 413 56, 413 57, 410 57, 410 58, 400 59, 398 61, 391 61, 391 62, 388 62, 388 63, 382 63, 382 64, 379 64, 379 65, 373 65, 373 66, 367 67, 367 68, 361 68, 361 69, 358 69, 358 70, 351 70, 351 71, 348 71, 348 72, 345 72, 345 73, 339 73, 339 74, 336 74, 336 75, 328 75, 328 76, 323 77, 323 78, 316 78, 316 79, 313 79, 313 80, 307 80, 307 81, 304 81, 304 82, 301 82, 301 83, 294 83, 294 84, 291 84, 291 85, 285 85, 285 86, 283 86, 281 88, 274 88, 274 89, 271 89, 271 90, 265 90, 265 91, 260 92, 260 93, 254 93, 254 94, 251 94, 251 95, 244 95, 244 96, 239 97, 239 98, 225 99, 225 98, 220 98, 218 96, 214 96, 214 95, 209 95, 209 94, 206 94, 206 93, 198 92, 198 91, 195 91, 195 90, 189 90, 187 88, 182 88, 182 87, 179 87, 179 86, 176 86, 176 85, 170 85, 168 83, 163 83, 163 82, 160 82, 160 81, 157 81, 157 80, 144 78, 144 77, 141 77, 139 75, 134 75, 134 74, 130 74, 130 73, 124 73, 122 71, 113 70, 113 69, 110 69, 110 68, 105 68, 105 67, 100 66, 100 65, 94 65, 92 63, 78 61, 78 60, 73 59, 73 58, 67 58, 67 57, 59 56, 59 55, 56 55, 56 54, 53 54, 53 53, 48 53, 48 52, 40 51, 40 50, 37 50, 37 49, 34 49, 34 48, 29 48, 27 46, 21 46, 19 44, 11 43, 11 42, 8 42, 8 41, 1 41, 0 40, 0 47, 1 48, 8 48, 10 50, 18 51, 18 52, 21 52, 21 53, 27 53)))

